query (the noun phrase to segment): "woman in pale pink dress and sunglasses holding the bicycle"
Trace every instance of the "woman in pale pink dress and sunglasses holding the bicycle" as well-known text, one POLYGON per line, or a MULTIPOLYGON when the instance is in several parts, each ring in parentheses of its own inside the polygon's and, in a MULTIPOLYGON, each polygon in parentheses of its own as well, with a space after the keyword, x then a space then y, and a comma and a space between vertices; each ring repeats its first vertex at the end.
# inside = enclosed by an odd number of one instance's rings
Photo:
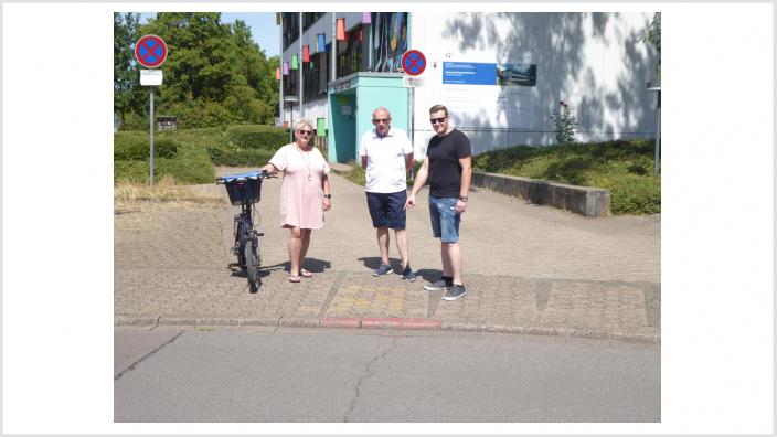
POLYGON ((280 225, 289 234, 289 281, 313 275, 304 268, 305 255, 310 246, 312 230, 323 227, 323 212, 331 207, 329 191, 329 166, 310 140, 313 128, 310 120, 297 120, 294 125, 296 141, 275 152, 269 163, 262 168, 270 174, 283 172, 280 184, 280 225))

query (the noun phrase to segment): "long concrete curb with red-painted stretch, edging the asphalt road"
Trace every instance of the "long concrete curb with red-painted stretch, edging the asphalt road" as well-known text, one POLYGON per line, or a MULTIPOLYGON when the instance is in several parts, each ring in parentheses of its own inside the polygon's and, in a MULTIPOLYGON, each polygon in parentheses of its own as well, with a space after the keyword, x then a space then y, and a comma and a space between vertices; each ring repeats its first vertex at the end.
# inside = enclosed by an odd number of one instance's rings
POLYGON ((294 318, 174 318, 117 316, 114 327, 279 327, 279 328, 345 328, 345 329, 394 329, 440 330, 458 332, 493 332, 524 335, 574 337, 597 340, 634 341, 640 343, 661 342, 660 334, 641 334, 619 331, 522 327, 488 323, 444 322, 438 319, 402 317, 294 317, 294 318))

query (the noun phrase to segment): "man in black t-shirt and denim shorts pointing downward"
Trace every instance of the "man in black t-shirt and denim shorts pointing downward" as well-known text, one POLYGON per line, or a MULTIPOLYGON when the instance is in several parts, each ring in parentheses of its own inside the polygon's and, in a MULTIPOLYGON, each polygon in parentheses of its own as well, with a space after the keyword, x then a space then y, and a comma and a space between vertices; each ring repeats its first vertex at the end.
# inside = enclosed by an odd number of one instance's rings
POLYGON ((418 170, 405 209, 415 206, 415 195, 429 178, 429 215, 432 232, 440 239, 443 277, 426 283, 426 290, 445 289, 445 300, 456 300, 467 291, 464 287, 464 255, 459 247, 459 222, 467 211, 467 193, 472 179, 472 147, 460 130, 450 127, 448 109, 435 105, 429 109, 432 127, 437 132, 429 140, 426 159, 418 170))

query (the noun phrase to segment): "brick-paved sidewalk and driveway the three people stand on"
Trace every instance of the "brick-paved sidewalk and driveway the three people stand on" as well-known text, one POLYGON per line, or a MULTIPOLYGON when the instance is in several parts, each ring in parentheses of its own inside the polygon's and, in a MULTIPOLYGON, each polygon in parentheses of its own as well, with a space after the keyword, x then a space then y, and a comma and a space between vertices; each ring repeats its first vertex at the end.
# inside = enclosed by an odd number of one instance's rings
MULTIPOLYGON (((219 169, 220 174, 243 169, 219 169)), ((223 186, 199 185, 221 205, 127 203, 114 215, 116 326, 304 326, 451 329, 660 341, 660 215, 588 218, 472 189, 461 223, 467 296, 441 300, 423 279, 372 277, 380 255, 363 188, 332 174, 332 210, 313 231, 306 267, 288 281, 280 180, 258 204, 263 285, 231 269, 232 217, 223 186), (182 232, 183 230, 183 232, 182 232)), ((408 212, 411 265, 440 273, 426 190, 408 212)), ((393 237, 393 235, 392 235, 393 237)), ((400 269, 391 243, 392 263, 400 269)))

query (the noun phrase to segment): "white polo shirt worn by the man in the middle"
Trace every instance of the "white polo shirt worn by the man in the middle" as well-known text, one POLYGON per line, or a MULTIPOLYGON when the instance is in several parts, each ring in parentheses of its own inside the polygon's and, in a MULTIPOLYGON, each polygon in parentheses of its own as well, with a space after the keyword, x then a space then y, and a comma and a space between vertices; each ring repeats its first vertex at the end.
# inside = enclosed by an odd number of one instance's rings
POLYGON ((371 193, 396 193, 407 190, 405 154, 413 153, 413 145, 404 130, 391 127, 385 137, 375 129, 365 132, 359 145, 359 162, 366 157, 366 184, 371 193))

